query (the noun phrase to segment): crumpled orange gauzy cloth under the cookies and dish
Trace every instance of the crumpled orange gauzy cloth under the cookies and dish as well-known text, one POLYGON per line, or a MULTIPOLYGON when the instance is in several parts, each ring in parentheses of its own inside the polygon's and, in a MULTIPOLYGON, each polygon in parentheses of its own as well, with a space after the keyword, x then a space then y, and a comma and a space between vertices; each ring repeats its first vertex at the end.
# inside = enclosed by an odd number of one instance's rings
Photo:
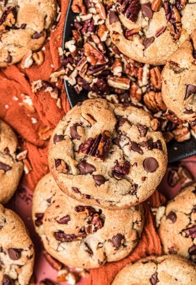
MULTIPOLYGON (((63 83, 58 86, 62 88, 62 109, 56 106, 56 100, 52 99, 49 93, 39 90, 36 94, 33 94, 31 91, 33 81, 38 79, 49 81, 52 71, 60 67, 57 48, 62 46, 67 7, 68 1, 61 0, 61 18, 56 30, 51 33, 50 40, 45 45, 45 61, 41 66, 33 64, 29 69, 22 69, 19 63, 16 66, 0 69, 0 117, 25 140, 22 143, 22 148, 28 150, 28 159, 32 171, 24 175, 22 184, 32 191, 38 180, 49 171, 47 161, 48 141, 41 140, 38 132, 44 126, 54 128, 62 116, 70 109, 63 83), (21 94, 31 97, 36 113, 30 113, 25 106, 20 104, 22 103, 21 94), (37 123, 33 124, 31 118, 37 119, 37 123)), ((35 120, 33 119, 33 121, 35 120)), ((158 192, 155 192, 149 202, 152 206, 159 206, 160 199, 164 198, 158 192)), ((111 284, 119 270, 127 263, 150 254, 161 254, 161 244, 153 225, 149 209, 150 204, 145 204, 146 225, 142 238, 134 252, 122 261, 107 263, 101 268, 91 270, 87 284, 111 284)))

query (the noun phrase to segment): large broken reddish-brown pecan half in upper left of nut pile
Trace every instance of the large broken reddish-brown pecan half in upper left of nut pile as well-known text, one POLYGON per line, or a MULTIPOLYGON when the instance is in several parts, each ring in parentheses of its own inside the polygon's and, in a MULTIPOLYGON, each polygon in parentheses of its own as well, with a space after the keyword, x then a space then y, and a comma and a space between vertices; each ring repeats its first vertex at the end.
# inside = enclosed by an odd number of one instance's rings
POLYGON ((84 44, 84 55, 91 65, 104 64, 108 61, 108 59, 104 57, 102 53, 100 53, 89 43, 84 44))

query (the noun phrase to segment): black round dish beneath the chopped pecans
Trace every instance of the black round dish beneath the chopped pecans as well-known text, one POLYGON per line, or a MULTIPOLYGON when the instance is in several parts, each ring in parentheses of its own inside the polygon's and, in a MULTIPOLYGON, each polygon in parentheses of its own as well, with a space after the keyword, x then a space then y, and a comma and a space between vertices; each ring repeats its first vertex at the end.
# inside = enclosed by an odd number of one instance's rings
MULTIPOLYGON (((65 28, 63 33, 63 49, 66 41, 69 41, 72 36, 73 22, 75 19, 75 13, 71 9, 72 0, 70 0, 67 16, 65 20, 65 28)), ((66 80, 64 80, 66 93, 70 102, 71 107, 75 106, 78 102, 88 99, 87 92, 82 91, 79 95, 73 89, 73 86, 69 85, 66 80)), ((191 137, 190 140, 185 142, 169 142, 168 146, 168 160, 169 163, 181 160, 183 158, 192 156, 196 154, 196 139, 191 137)))

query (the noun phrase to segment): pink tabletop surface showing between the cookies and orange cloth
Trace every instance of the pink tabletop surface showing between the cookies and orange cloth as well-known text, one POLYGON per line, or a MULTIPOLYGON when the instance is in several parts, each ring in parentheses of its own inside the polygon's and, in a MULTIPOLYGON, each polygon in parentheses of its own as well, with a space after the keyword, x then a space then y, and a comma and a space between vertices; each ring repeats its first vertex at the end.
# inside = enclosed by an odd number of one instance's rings
MULTIPOLYGON (((181 162, 181 165, 185 166, 194 176, 196 181, 196 156, 187 158, 181 162)), ((27 174, 28 175, 28 174, 27 174)), ((172 199, 180 190, 180 184, 177 183, 175 187, 170 187, 167 183, 167 173, 163 178, 159 191, 166 195, 168 199, 172 199)), ((13 209, 25 222, 26 227, 30 232, 30 236, 35 245, 36 258, 34 274, 36 277, 36 284, 45 278, 49 278, 52 281, 56 281, 57 271, 54 270, 49 263, 46 261, 42 254, 41 242, 39 236, 35 233, 32 219, 31 219, 31 205, 32 205, 32 193, 27 189, 23 188, 22 185, 19 187, 16 195, 6 205, 6 207, 13 209)), ((61 283, 66 284, 66 282, 61 283)), ((78 285, 85 285, 85 279, 82 278, 78 285)))

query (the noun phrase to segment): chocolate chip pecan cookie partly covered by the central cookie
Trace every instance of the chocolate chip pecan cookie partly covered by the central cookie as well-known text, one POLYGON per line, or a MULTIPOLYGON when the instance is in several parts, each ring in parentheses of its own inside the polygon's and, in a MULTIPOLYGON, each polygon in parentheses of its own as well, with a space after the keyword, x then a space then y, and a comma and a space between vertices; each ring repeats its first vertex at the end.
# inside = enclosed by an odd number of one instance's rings
POLYGON ((45 249, 62 263, 96 268, 133 251, 144 225, 142 205, 111 211, 66 196, 49 173, 33 197, 33 222, 45 249))

